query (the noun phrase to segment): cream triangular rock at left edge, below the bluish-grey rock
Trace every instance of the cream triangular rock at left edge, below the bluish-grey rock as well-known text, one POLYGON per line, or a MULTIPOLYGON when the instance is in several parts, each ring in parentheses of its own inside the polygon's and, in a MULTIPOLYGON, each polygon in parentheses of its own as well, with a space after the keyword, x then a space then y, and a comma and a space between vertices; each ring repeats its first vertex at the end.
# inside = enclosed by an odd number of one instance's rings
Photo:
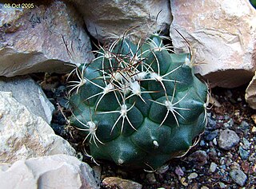
POLYGON ((74 148, 11 93, 0 92, 0 115, 0 163, 55 154, 74 156, 74 148))

